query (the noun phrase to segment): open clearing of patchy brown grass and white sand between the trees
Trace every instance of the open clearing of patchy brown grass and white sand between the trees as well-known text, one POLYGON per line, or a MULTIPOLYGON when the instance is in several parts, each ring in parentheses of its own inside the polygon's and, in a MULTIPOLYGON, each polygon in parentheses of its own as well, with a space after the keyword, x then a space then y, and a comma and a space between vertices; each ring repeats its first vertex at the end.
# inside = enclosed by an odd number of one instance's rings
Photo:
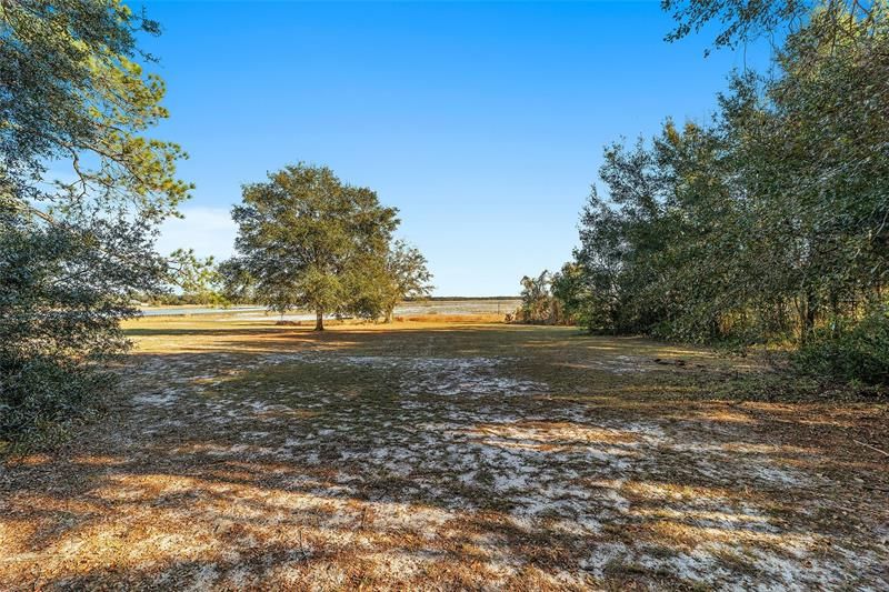
POLYGON ((0 473, 2 590, 889 588, 885 404, 570 328, 128 330, 104 418, 0 473))

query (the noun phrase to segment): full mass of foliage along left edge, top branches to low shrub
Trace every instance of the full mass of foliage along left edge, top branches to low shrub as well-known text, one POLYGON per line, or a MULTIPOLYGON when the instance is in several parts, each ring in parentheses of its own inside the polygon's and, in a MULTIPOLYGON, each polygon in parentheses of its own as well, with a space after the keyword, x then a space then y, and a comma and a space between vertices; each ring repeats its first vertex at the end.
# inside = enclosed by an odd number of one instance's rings
POLYGON ((167 111, 139 31, 157 23, 116 0, 0 3, 0 441, 89 407, 163 280, 156 224, 190 185, 143 136, 167 111))

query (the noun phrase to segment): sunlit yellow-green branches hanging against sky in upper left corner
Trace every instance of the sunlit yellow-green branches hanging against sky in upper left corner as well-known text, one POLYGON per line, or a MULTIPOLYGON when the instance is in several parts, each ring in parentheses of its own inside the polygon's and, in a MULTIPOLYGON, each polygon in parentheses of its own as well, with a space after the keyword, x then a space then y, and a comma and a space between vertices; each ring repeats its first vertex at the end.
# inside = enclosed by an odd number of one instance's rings
POLYGON ((116 0, 18 0, 0 6, 0 147, 4 202, 43 200, 57 213, 134 208, 173 212, 189 185, 174 177, 177 144, 142 133, 168 116, 163 82, 136 59, 153 21, 116 0), (46 175, 67 163, 73 180, 46 175), (124 198, 126 199, 122 199, 124 198))

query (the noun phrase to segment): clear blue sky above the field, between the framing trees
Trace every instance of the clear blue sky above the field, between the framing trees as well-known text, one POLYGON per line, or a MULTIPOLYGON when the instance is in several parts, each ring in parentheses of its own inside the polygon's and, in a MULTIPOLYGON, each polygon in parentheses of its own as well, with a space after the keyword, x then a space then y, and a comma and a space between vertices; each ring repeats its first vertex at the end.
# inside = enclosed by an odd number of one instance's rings
POLYGON ((705 59, 711 36, 666 43, 657 1, 144 6, 164 29, 143 44, 168 84, 156 136, 197 183, 162 252, 228 257, 241 184, 303 160, 397 207, 439 295, 558 269, 602 147, 706 119, 745 64, 705 59))

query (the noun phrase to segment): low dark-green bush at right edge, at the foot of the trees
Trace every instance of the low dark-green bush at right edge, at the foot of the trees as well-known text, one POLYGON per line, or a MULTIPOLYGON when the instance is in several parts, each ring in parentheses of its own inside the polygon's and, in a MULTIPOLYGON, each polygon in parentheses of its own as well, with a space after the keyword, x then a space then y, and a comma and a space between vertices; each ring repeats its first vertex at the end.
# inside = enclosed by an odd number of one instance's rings
POLYGON ((875 310, 852 329, 816 331, 795 355, 815 374, 865 384, 889 384, 889 310, 875 310))

